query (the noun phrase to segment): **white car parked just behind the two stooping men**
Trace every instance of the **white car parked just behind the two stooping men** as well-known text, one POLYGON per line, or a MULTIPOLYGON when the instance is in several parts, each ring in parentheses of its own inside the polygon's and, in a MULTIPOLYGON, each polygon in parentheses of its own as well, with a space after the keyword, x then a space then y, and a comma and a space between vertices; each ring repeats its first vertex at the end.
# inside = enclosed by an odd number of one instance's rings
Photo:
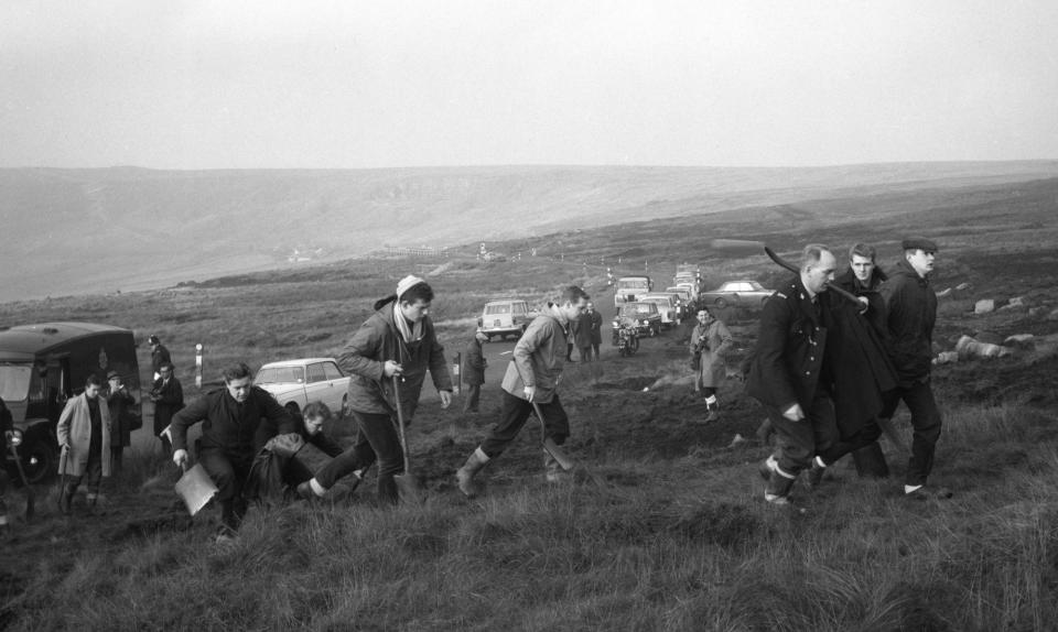
POLYGON ((253 383, 276 397, 292 413, 309 402, 323 402, 335 414, 345 412, 349 378, 334 358, 304 358, 269 362, 260 368, 253 383))

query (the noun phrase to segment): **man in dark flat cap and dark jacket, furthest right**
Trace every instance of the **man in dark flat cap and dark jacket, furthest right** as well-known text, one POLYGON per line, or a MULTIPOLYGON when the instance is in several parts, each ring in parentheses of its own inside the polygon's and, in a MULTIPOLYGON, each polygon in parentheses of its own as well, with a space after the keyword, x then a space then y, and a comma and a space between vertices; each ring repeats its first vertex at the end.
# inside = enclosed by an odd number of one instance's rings
POLYGON ((937 258, 937 244, 924 237, 903 241, 904 259, 882 285, 886 306, 889 356, 897 373, 897 388, 885 395, 881 416, 889 418, 900 400, 911 413, 915 428, 907 464, 904 493, 914 499, 943 499, 951 491, 927 488, 933 468, 933 453, 940 438, 940 412, 929 384, 933 357, 933 324, 937 294, 929 283, 937 258))

